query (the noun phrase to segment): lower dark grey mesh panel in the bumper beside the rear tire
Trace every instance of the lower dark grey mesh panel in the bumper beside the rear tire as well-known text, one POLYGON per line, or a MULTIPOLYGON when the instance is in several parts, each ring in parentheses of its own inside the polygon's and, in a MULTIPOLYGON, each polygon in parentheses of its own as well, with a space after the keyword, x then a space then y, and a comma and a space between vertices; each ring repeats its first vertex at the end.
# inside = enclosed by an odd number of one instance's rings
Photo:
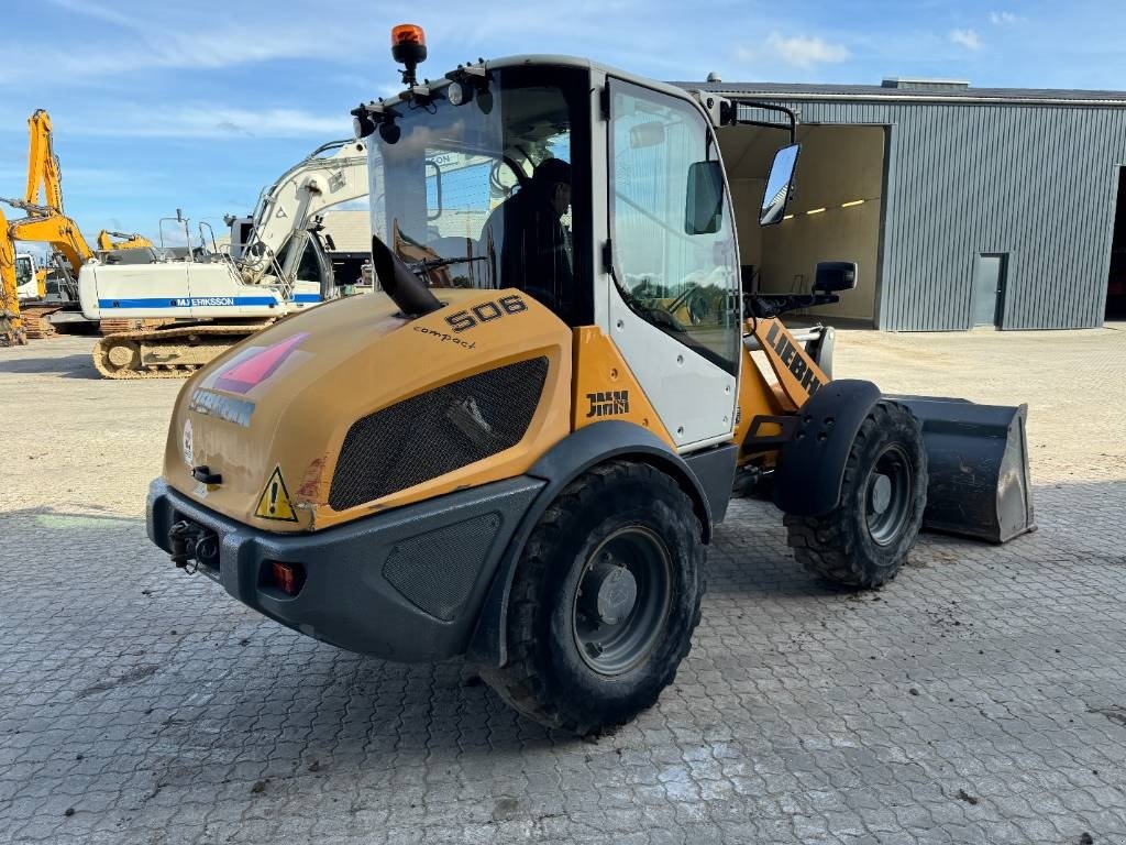
POLYGON ((449 622, 468 598, 492 545, 500 515, 482 514, 397 543, 383 577, 431 616, 449 622))

